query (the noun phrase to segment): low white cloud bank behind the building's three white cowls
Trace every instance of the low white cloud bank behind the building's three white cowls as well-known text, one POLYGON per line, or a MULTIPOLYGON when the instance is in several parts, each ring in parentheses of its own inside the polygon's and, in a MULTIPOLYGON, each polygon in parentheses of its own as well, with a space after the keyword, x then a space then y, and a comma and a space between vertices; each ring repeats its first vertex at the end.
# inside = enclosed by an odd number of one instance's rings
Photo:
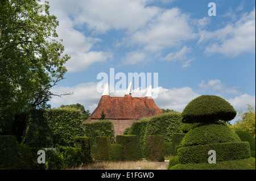
MULTIPOLYGON (((54 96, 49 104, 52 107, 59 107, 61 104, 76 104, 80 103, 85 106, 90 112, 93 112, 100 101, 102 92, 97 91, 97 82, 82 83, 73 87, 54 87, 52 92, 55 94, 63 94, 64 92, 73 92, 73 95, 57 97, 54 96)), ((123 90, 116 91, 112 96, 123 96, 123 90)), ((145 90, 138 88, 133 90, 132 96, 144 96, 145 90)), ((181 87, 179 89, 164 89, 156 87, 152 92, 158 92, 157 98, 154 99, 156 106, 159 108, 168 108, 171 110, 182 111, 185 106, 195 99, 199 94, 194 92, 190 87, 181 87)))

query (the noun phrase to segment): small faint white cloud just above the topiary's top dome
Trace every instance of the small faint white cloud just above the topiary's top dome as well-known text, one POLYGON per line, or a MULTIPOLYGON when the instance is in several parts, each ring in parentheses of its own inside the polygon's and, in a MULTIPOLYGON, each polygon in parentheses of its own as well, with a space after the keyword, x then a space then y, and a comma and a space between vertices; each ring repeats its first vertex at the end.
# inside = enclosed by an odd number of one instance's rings
POLYGON ((237 95, 239 92, 237 89, 238 86, 228 87, 227 83, 221 82, 219 79, 211 79, 207 83, 201 81, 199 84, 199 92, 208 92, 208 94, 215 94, 218 96, 224 96, 228 94, 237 95))

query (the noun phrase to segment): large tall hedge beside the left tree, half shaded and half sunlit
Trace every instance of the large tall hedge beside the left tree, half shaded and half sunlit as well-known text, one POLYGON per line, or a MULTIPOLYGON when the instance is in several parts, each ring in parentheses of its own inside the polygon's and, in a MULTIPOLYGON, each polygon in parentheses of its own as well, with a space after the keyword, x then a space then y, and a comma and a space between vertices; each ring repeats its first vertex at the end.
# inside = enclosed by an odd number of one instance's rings
POLYGON ((80 111, 72 108, 32 109, 28 113, 22 142, 31 147, 73 146, 84 136, 80 111))

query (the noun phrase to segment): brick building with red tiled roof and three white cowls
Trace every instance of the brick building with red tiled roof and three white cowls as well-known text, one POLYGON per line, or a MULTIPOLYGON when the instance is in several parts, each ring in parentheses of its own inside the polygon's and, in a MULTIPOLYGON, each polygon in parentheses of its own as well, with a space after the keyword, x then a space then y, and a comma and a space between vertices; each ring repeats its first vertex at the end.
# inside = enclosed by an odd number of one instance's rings
POLYGON ((130 127, 134 120, 162 113, 152 99, 151 86, 145 97, 133 97, 131 96, 131 83, 123 97, 110 96, 107 84, 97 108, 84 123, 100 119, 102 110, 104 110, 105 119, 113 121, 115 135, 123 134, 123 131, 130 127))

